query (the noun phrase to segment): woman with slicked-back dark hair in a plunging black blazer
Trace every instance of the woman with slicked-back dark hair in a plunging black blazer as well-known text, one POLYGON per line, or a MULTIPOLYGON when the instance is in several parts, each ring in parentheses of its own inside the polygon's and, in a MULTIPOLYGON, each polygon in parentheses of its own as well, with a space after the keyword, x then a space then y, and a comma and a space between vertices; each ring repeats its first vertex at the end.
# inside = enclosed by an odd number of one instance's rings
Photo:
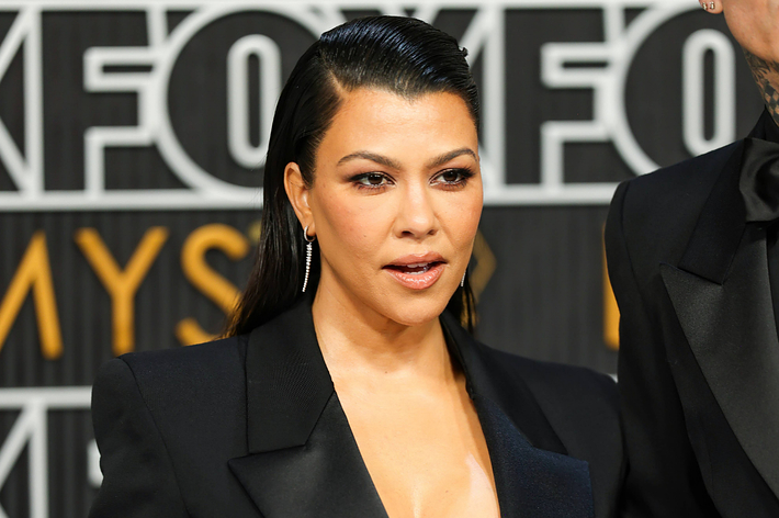
POLYGON ((379 16, 301 58, 228 338, 98 376, 92 517, 610 515, 611 380, 488 349, 458 322, 473 326, 482 212, 464 57, 379 16))

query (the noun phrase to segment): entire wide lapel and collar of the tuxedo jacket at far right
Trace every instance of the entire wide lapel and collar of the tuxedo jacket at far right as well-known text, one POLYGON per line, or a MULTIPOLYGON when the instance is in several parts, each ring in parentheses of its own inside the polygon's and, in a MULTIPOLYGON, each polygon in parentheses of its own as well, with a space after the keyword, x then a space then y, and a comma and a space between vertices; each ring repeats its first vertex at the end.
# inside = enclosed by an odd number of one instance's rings
POLYGON ((661 264, 671 304, 742 448, 779 495, 779 338, 765 229, 746 224, 743 145, 723 168, 678 268, 661 264))

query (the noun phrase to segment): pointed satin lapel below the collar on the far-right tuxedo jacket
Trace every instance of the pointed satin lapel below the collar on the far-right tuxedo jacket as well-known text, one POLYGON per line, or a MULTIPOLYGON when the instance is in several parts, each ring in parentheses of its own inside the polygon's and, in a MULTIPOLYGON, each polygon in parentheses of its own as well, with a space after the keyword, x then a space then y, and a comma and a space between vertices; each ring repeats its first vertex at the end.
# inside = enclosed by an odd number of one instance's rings
POLYGON ((670 264, 661 275, 727 423, 779 496, 779 339, 765 230, 747 226, 722 284, 670 264))

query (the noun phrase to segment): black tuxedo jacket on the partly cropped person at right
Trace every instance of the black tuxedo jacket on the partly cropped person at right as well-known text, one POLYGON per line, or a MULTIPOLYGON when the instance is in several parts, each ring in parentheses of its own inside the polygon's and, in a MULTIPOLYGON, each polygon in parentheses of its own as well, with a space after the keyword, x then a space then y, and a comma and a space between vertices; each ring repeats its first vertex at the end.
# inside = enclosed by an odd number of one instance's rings
POLYGON ((779 339, 743 148, 622 183, 611 204, 628 517, 779 516, 779 339))

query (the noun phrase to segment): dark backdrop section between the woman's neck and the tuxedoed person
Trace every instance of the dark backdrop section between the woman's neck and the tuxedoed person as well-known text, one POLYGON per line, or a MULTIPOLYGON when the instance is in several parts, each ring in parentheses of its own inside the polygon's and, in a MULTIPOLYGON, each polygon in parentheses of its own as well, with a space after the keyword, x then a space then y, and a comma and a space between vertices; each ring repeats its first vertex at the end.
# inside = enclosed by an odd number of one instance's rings
POLYGON ((482 341, 616 372, 602 328, 606 213, 601 206, 484 211, 481 229, 497 269, 479 299, 482 341))

